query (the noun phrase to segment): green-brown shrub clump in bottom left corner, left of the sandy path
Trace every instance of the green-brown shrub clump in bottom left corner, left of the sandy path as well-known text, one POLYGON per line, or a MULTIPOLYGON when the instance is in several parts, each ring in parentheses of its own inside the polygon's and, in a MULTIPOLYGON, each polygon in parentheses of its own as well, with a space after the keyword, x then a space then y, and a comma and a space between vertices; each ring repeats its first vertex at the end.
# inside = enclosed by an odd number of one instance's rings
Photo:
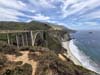
POLYGON ((27 63, 16 66, 14 69, 6 69, 2 75, 32 75, 32 66, 27 63))

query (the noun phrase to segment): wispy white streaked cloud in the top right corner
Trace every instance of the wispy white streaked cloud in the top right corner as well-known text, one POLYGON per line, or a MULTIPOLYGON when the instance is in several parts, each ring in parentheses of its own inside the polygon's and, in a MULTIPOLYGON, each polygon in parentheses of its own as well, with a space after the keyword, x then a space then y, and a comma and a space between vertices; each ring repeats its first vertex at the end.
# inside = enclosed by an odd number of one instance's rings
POLYGON ((62 15, 65 18, 73 14, 83 14, 98 6, 100 6, 99 0, 65 0, 62 6, 62 15))

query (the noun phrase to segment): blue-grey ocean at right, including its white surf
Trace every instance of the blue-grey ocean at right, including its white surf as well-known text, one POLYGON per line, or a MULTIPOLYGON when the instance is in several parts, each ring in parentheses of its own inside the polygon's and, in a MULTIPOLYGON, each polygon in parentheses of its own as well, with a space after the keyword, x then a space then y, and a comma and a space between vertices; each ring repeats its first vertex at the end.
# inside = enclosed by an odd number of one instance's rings
POLYGON ((100 31, 77 31, 69 47, 81 64, 100 74, 100 31))

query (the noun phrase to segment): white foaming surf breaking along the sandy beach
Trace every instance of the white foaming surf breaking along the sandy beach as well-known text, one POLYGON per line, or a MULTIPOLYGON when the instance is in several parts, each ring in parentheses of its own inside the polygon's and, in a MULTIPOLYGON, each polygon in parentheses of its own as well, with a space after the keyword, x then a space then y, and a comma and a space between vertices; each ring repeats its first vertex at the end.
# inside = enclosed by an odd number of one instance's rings
POLYGON ((74 40, 70 41, 69 48, 71 53, 80 61, 83 67, 100 74, 100 68, 98 65, 82 50, 79 50, 79 48, 74 44, 74 40))

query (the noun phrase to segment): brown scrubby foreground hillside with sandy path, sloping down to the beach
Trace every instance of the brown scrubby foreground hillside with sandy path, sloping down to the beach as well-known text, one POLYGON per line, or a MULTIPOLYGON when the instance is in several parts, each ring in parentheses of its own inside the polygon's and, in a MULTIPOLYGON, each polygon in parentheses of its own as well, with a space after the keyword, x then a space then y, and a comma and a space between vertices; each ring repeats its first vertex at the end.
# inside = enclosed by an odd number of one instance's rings
POLYGON ((5 44, 2 49, 5 51, 0 50, 0 75, 97 75, 48 48, 17 50, 5 44))

